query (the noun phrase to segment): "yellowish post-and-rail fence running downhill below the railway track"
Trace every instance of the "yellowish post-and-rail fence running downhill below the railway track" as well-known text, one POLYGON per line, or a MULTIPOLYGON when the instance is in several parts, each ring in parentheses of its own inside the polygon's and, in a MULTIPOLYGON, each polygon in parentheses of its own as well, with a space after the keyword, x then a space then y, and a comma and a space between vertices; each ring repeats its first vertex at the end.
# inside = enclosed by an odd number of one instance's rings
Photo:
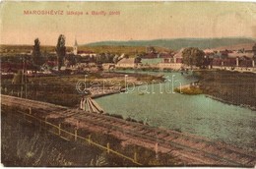
MULTIPOLYGON (((30 110, 30 113, 29 113, 29 114, 28 114, 28 113, 25 113, 25 112, 22 112, 22 111, 19 111, 19 110, 18 110, 18 112, 19 112, 20 114, 23 114, 25 119, 26 119, 26 116, 27 116, 27 117, 31 117, 32 119, 38 121, 39 124, 40 124, 40 129, 41 129, 42 123, 44 123, 45 129, 46 129, 46 125, 48 125, 48 126, 54 128, 54 129, 57 129, 58 133, 55 133, 55 132, 52 132, 52 131, 48 131, 48 132, 50 132, 51 134, 54 134, 54 135, 60 137, 61 139, 64 139, 64 140, 66 140, 66 141, 70 141, 70 140, 68 140, 67 138, 64 138, 63 136, 61 136, 61 133, 65 133, 65 134, 67 134, 67 135, 69 135, 69 136, 71 136, 71 137, 74 137, 74 140, 75 140, 75 141, 77 141, 78 139, 81 139, 81 140, 83 140, 83 141, 88 142, 90 145, 95 145, 95 146, 97 146, 97 147, 99 147, 99 148, 102 148, 102 149, 106 150, 108 153, 111 152, 111 153, 113 153, 113 154, 115 154, 115 155, 117 155, 117 156, 120 156, 120 157, 122 157, 122 158, 125 158, 125 159, 127 159, 127 160, 133 162, 134 164, 137 164, 137 165, 140 165, 140 166, 142 165, 142 164, 139 163, 138 160, 137 160, 137 152, 134 152, 134 156, 133 156, 133 157, 126 156, 126 155, 124 155, 124 154, 122 154, 122 153, 120 153, 120 152, 117 152, 117 151, 114 150, 114 149, 111 149, 108 142, 106 143, 106 146, 104 146, 104 145, 101 145, 101 144, 97 143, 96 141, 93 141, 92 138, 91 138, 91 135, 89 135, 88 138, 84 138, 84 137, 78 135, 78 131, 77 131, 77 130, 75 130, 74 133, 68 132, 68 131, 66 131, 66 130, 64 130, 64 129, 61 129, 61 124, 59 124, 59 125, 57 126, 57 125, 54 125, 54 124, 52 124, 52 123, 50 123, 50 122, 47 122, 47 119, 41 120, 41 119, 39 119, 39 118, 37 118, 37 117, 34 117, 34 116, 32 115, 32 108, 29 108, 29 110, 30 110)), ((31 123, 32 123, 32 122, 31 122, 31 123)))

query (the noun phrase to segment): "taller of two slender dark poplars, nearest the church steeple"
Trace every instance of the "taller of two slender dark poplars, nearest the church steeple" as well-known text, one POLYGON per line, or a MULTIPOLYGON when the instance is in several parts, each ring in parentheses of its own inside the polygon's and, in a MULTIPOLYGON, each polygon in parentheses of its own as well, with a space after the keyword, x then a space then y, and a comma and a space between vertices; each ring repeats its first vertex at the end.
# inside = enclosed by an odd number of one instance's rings
POLYGON ((59 35, 55 50, 57 52, 57 62, 58 62, 58 71, 59 71, 61 66, 63 65, 63 58, 66 55, 65 36, 63 34, 59 35))

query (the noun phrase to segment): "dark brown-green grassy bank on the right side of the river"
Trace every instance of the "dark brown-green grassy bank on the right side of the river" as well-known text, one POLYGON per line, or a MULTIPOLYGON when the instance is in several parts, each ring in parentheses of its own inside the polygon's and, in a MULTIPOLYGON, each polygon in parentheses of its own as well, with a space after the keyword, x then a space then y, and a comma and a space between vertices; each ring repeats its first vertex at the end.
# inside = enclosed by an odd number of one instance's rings
POLYGON ((195 71, 194 74, 209 97, 256 110, 256 74, 228 71, 195 71))

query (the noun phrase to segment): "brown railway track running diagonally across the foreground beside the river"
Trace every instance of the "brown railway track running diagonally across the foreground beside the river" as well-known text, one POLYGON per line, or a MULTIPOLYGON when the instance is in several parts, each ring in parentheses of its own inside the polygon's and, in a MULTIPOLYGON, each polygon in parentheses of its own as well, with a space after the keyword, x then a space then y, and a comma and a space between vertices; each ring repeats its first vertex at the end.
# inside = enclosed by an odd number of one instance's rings
POLYGON ((87 113, 78 109, 46 102, 1 95, 1 104, 25 109, 41 119, 62 121, 91 132, 102 132, 126 143, 134 143, 168 153, 181 159, 187 165, 254 166, 256 154, 224 142, 158 129, 135 122, 87 113))

